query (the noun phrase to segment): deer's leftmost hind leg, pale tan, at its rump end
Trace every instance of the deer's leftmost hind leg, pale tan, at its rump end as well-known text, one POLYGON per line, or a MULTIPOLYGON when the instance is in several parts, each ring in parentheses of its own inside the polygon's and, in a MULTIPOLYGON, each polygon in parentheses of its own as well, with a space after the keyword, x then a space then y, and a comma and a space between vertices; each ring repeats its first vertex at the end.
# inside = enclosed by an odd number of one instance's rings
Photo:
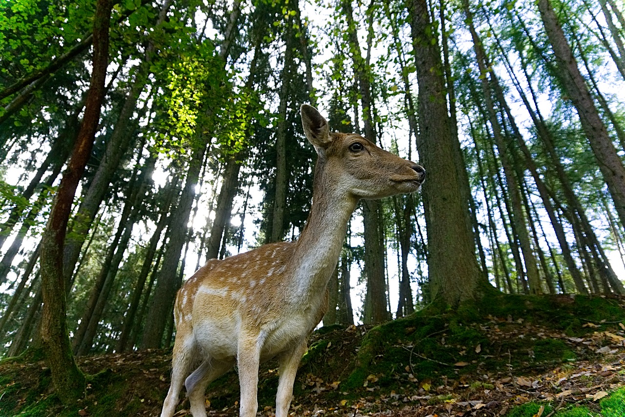
POLYGON ((192 370, 194 361, 197 360, 197 346, 192 331, 179 329, 174 341, 174 352, 171 360, 171 385, 163 402, 161 417, 171 417, 178 405, 178 395, 183 388, 184 378, 192 370))

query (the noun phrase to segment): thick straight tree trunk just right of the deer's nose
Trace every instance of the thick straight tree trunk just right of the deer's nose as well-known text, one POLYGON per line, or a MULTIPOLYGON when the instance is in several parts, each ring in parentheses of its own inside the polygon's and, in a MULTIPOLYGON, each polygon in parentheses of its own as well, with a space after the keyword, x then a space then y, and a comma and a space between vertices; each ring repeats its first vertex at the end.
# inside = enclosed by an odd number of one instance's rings
POLYGON ((481 273, 459 192, 437 34, 426 0, 411 0, 408 9, 419 85, 417 149, 429 178, 422 187, 429 280, 435 300, 457 307, 481 297, 481 273))

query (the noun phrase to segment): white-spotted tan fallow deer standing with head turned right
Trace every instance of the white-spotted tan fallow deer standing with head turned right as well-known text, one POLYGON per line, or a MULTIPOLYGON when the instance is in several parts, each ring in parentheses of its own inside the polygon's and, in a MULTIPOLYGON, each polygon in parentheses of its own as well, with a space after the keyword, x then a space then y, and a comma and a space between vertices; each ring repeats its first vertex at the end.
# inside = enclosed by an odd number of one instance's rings
POLYGON ((330 133, 327 120, 301 106, 318 159, 312 207, 296 242, 269 243, 211 259, 178 291, 171 387, 161 417, 171 417, 184 383, 194 417, 206 417, 207 385, 238 366, 241 417, 257 411, 259 363, 279 358, 276 417, 286 417, 306 341, 327 308, 347 222, 359 199, 414 192, 425 170, 357 134, 330 133))

